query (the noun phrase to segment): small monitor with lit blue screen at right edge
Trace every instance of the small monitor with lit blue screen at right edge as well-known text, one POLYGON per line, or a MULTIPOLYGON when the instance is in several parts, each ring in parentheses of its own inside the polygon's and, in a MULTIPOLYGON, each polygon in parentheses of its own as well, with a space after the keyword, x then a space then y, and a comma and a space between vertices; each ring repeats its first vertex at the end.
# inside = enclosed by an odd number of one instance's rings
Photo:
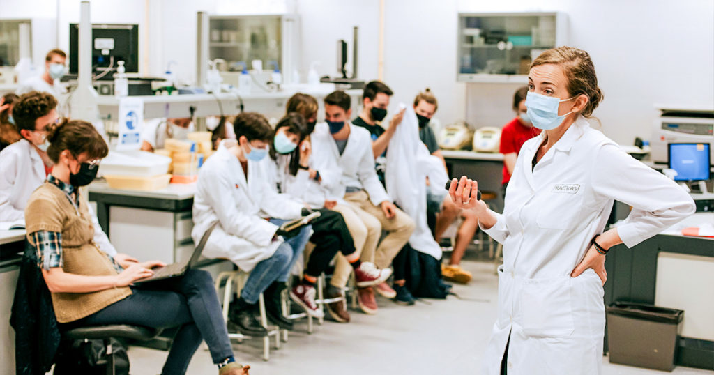
POLYGON ((669 167, 677 171, 675 181, 709 179, 710 144, 669 144, 669 167))

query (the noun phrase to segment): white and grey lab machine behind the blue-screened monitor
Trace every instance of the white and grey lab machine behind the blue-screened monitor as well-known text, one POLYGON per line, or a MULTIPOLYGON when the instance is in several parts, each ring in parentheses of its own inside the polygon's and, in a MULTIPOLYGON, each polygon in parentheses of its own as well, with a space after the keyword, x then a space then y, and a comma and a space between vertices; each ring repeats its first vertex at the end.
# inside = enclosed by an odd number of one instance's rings
MULTIPOLYGON (((668 162, 668 144, 714 143, 714 108, 711 106, 656 106, 660 116, 652 129, 652 161, 668 162)), ((714 149, 710 149, 710 163, 714 149)))

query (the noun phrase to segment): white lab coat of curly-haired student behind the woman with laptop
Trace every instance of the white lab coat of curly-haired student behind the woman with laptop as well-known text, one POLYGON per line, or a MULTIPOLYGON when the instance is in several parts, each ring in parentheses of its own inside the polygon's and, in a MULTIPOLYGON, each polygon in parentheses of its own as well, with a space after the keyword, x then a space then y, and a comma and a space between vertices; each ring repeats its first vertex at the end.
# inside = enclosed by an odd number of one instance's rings
MULTIPOLYGON (((26 139, 21 139, 1 151, 0 221, 24 223, 27 201, 45 179, 44 161, 26 139)), ((87 207, 94 225, 94 243, 106 254, 116 255, 116 249, 101 230, 94 210, 91 206, 87 207)))

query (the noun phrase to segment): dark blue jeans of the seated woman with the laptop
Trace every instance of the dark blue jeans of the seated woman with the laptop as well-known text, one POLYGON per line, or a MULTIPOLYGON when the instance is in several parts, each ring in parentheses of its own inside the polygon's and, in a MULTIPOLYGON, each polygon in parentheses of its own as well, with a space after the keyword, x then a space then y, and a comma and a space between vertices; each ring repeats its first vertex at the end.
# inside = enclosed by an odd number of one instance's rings
POLYGON ((188 362, 203 340, 208 344, 214 364, 233 356, 221 305, 208 272, 189 269, 181 277, 146 283, 131 291, 131 296, 106 306, 77 324, 180 326, 162 374, 186 374, 188 362))

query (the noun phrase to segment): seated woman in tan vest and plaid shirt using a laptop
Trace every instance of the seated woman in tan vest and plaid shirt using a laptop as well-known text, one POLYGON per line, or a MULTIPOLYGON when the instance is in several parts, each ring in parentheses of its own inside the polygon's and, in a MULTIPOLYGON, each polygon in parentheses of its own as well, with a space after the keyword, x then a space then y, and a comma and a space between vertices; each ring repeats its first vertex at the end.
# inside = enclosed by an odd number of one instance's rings
POLYGON ((185 374, 206 341, 218 374, 248 374, 233 359, 211 275, 191 269, 183 276, 132 286, 151 276, 161 261, 114 261, 94 245, 93 227, 79 187, 96 175, 109 151, 92 124, 69 121, 49 130, 54 169, 25 209, 27 241, 37 251, 59 324, 180 326, 162 374, 185 374))

